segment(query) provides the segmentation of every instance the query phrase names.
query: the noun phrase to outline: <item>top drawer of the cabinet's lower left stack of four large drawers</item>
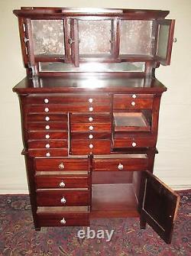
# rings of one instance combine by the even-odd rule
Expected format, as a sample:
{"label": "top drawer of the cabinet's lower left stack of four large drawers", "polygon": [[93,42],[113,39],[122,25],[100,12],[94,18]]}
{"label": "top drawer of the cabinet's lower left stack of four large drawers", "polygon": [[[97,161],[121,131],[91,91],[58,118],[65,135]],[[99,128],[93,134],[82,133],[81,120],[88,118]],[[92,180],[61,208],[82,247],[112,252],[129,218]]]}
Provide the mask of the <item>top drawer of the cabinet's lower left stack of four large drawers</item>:
{"label": "top drawer of the cabinet's lower left stack of four large drawers", "polygon": [[89,170],[89,160],[75,158],[37,158],[34,160],[36,170]]}

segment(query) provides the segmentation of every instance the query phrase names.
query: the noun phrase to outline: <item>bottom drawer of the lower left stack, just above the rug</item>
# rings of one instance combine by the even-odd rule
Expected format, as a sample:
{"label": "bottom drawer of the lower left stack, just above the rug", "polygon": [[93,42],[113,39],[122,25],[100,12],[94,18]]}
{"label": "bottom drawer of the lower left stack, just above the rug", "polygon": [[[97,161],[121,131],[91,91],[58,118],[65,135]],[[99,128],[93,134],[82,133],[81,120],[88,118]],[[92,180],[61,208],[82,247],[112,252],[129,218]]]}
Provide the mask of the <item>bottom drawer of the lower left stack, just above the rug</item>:
{"label": "bottom drawer of the lower left stack, just above the rug", "polygon": [[[83,207],[84,206],[79,206],[75,208],[83,208]],[[89,212],[78,211],[78,210],[70,212],[74,207],[70,207],[70,209],[68,209],[67,212],[66,211],[57,212],[58,207],[48,207],[50,212],[47,212],[47,211],[44,212],[44,208],[47,208],[47,207],[38,207],[37,209],[37,222],[39,223],[40,227],[89,225]],[[43,209],[43,210],[40,211],[39,209]]]}

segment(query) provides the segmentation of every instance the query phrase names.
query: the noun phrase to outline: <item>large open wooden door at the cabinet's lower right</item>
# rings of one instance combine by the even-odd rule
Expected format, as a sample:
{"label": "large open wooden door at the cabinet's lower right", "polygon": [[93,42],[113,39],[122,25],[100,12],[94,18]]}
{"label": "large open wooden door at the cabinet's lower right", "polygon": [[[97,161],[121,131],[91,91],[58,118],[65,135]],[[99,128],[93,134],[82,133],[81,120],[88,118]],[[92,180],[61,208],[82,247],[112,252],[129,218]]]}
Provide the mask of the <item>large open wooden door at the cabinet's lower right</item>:
{"label": "large open wooden door at the cabinet's lower right", "polygon": [[148,171],[143,172],[141,190],[141,219],[170,244],[180,196]]}

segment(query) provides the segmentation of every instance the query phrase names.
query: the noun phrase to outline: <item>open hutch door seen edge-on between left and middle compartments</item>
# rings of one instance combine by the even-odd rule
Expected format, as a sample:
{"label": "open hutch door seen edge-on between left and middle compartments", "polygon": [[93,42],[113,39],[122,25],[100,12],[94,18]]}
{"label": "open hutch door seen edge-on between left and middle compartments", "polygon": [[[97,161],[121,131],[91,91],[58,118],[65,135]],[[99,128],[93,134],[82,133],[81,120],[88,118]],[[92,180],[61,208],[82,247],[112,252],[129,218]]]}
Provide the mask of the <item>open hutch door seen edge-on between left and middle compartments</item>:
{"label": "open hutch door seen edge-on between left and middle compartments", "polygon": [[78,21],[75,18],[70,19],[70,39],[71,58],[74,66],[79,66],[79,29]]}

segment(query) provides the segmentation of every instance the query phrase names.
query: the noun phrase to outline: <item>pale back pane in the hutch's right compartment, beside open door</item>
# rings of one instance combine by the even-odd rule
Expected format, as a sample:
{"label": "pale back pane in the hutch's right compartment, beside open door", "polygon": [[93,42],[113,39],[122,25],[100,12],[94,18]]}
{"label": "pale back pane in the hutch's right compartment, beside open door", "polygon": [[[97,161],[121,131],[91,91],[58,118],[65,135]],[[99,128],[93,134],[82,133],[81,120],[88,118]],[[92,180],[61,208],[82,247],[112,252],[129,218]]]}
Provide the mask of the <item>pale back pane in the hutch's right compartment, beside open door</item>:
{"label": "pale back pane in the hutch's right compartment, beside open door", "polygon": [[121,21],[120,54],[151,55],[153,21]]}

